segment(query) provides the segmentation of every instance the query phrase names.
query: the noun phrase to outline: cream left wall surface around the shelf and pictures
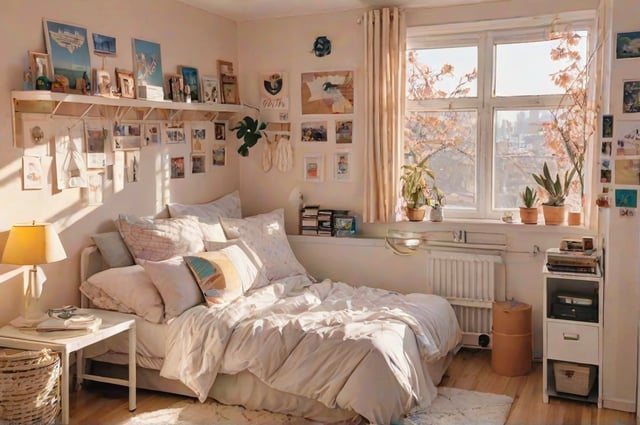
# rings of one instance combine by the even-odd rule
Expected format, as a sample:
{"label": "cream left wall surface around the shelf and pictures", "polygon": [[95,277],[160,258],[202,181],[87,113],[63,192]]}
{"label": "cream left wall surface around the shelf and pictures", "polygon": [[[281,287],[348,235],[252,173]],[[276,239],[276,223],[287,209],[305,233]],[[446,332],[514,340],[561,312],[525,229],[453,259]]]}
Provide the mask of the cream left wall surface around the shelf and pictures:
{"label": "cream left wall surface around the shelf and pictures", "polygon": [[[23,191],[23,152],[12,143],[10,92],[22,89],[27,51],[45,51],[42,18],[82,26],[89,34],[115,36],[117,57],[105,61],[112,78],[116,67],[133,69],[134,37],[160,43],[165,74],[175,73],[178,65],[190,65],[201,74],[215,75],[217,59],[237,60],[236,24],[173,0],[6,0],[2,9],[0,38],[5,41],[0,48],[0,246],[4,246],[13,223],[32,219],[55,223],[69,258],[43,266],[48,276],[43,304],[78,304],[79,252],[89,244],[91,233],[113,230],[112,220],[120,212],[152,215],[170,200],[203,202],[236,189],[237,155],[230,149],[226,167],[210,168],[207,174],[198,176],[187,172],[185,179],[167,181],[157,179],[159,159],[163,154],[184,154],[188,158],[190,146],[145,147],[141,180],[125,184],[118,194],[106,193],[105,203],[99,207],[85,206],[80,189],[54,194],[49,185],[42,190]],[[101,64],[97,56],[92,56],[92,66]],[[209,130],[212,133],[213,129]],[[19,268],[0,265],[0,324],[19,315],[22,286]]]}

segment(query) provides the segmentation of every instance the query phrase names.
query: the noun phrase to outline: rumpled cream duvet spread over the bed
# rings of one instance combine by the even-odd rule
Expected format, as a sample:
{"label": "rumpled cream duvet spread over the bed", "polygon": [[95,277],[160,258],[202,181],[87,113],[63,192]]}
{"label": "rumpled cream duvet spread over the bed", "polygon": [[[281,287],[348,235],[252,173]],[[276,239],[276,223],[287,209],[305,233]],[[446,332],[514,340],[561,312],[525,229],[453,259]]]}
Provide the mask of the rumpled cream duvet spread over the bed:
{"label": "rumpled cream duvet spread over the bed", "polygon": [[218,373],[247,370],[272,388],[386,424],[435,399],[423,362],[460,338],[441,297],[294,276],[174,319],[160,374],[204,401]]}

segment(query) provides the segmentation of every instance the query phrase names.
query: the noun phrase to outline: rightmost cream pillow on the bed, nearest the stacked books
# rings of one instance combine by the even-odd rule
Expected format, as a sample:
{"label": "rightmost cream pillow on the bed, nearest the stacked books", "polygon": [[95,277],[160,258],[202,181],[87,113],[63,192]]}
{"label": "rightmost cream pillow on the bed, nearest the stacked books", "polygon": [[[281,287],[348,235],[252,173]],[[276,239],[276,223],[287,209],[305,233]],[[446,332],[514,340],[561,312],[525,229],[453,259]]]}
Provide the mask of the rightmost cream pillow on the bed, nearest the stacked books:
{"label": "rightmost cream pillow on the bed, nearest the stacked books", "polygon": [[239,238],[255,252],[269,281],[307,273],[289,245],[284,209],[244,219],[221,217],[220,223],[228,239]]}

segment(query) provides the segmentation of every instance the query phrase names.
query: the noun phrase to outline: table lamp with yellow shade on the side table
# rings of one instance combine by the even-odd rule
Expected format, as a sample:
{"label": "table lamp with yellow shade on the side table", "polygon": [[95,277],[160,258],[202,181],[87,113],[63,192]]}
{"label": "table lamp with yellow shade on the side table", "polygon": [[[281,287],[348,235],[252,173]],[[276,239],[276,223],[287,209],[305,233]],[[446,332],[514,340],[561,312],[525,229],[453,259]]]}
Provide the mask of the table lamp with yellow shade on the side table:
{"label": "table lamp with yellow shade on the side table", "polygon": [[2,262],[30,265],[29,285],[24,300],[24,318],[38,319],[44,315],[40,309],[39,264],[54,263],[67,258],[58,233],[51,223],[14,224],[4,247]]}

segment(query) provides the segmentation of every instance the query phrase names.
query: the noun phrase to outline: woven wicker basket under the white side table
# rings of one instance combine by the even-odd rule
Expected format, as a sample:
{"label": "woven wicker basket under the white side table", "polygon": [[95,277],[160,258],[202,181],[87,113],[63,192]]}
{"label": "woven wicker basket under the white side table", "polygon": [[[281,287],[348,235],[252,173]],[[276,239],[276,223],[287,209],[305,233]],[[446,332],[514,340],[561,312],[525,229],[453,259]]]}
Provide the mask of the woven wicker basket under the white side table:
{"label": "woven wicker basket under the white side table", "polygon": [[53,424],[60,410],[60,357],[0,350],[0,423]]}

